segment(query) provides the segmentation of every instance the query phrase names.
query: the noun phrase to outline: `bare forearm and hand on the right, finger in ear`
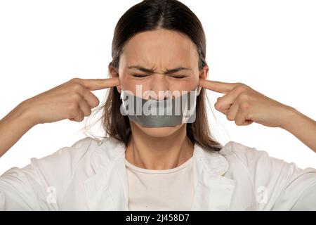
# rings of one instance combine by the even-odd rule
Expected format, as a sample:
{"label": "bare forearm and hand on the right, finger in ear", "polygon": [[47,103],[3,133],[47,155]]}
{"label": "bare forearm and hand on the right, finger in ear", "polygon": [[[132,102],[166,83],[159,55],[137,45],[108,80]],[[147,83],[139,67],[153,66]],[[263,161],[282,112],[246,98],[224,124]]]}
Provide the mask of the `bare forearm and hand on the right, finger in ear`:
{"label": "bare forearm and hand on the right, finger in ear", "polygon": [[280,127],[294,134],[316,153],[316,121],[298,110],[275,101],[241,83],[213,82],[200,79],[199,86],[225,94],[217,99],[216,110],[239,126],[253,122]]}

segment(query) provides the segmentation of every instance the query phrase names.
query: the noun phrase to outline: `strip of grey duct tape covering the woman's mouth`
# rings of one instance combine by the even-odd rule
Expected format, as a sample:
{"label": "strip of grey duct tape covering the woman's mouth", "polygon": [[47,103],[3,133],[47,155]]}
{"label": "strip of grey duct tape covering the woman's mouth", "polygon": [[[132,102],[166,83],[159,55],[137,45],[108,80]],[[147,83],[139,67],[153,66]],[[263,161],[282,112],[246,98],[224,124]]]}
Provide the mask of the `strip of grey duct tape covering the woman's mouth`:
{"label": "strip of grey duct tape covering the woman's mouth", "polygon": [[196,118],[197,89],[184,91],[177,98],[163,101],[146,100],[121,91],[121,114],[143,127],[175,127],[193,123]]}

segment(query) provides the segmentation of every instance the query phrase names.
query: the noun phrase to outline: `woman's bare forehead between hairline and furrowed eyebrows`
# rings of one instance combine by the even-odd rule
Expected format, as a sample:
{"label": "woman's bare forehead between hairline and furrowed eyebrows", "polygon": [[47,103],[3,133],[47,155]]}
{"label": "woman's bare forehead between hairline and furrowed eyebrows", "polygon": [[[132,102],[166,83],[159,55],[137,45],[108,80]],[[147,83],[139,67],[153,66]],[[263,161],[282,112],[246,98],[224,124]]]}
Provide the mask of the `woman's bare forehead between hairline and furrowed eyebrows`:
{"label": "woman's bare forehead between hairline and furrowed eyebrows", "polygon": [[142,64],[157,68],[195,67],[195,44],[184,34],[171,30],[141,32],[132,37],[121,54],[125,65]]}

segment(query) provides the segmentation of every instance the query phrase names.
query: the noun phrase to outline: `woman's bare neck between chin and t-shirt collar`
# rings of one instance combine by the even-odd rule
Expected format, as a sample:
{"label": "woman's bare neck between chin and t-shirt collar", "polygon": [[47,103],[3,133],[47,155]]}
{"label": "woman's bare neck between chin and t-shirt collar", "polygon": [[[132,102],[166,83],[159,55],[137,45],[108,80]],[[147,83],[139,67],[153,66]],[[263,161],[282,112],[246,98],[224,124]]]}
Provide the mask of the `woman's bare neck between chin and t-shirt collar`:
{"label": "woman's bare neck between chin and t-shirt collar", "polygon": [[126,146],[126,160],[144,169],[172,169],[193,155],[193,144],[187,138],[186,124],[166,137],[152,137],[131,123],[131,137]]}

